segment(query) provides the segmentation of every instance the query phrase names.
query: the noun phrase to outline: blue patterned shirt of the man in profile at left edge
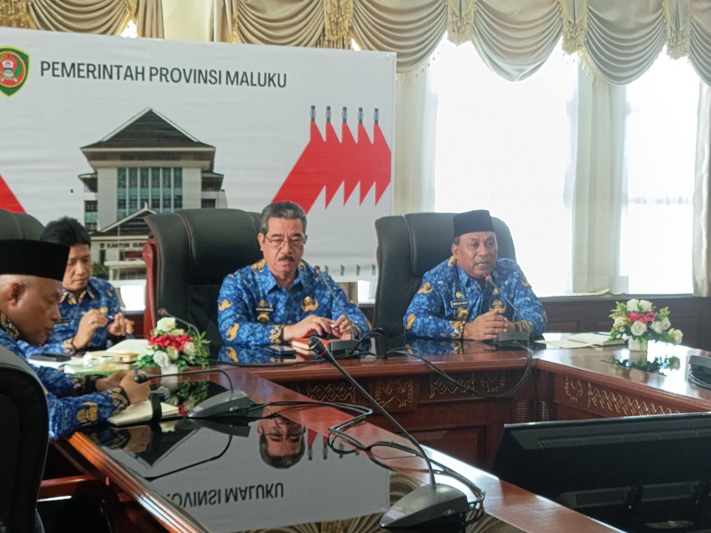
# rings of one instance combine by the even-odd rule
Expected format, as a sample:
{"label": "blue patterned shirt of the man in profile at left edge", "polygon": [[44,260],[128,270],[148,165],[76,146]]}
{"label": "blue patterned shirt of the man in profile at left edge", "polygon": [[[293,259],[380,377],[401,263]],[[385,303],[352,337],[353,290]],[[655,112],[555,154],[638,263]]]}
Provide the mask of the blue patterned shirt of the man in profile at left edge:
{"label": "blue patterned shirt of the man in profile at left edge", "polygon": [[[0,312],[0,346],[24,358],[19,338],[16,327]],[[46,390],[50,439],[59,439],[77,429],[104,422],[130,404],[121,387],[85,394],[85,376],[65,374],[46,366],[30,366]]]}

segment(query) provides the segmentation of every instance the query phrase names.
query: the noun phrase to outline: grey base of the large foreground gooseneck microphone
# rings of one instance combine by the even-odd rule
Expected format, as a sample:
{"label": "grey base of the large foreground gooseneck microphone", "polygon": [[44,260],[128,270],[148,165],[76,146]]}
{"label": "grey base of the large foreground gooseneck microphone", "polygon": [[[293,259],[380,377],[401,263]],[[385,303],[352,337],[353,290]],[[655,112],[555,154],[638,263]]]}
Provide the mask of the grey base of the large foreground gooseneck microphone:
{"label": "grey base of the large foreground gooseneck microphone", "polygon": [[469,502],[449,485],[425,485],[406,494],[385,512],[380,527],[413,527],[464,522]]}

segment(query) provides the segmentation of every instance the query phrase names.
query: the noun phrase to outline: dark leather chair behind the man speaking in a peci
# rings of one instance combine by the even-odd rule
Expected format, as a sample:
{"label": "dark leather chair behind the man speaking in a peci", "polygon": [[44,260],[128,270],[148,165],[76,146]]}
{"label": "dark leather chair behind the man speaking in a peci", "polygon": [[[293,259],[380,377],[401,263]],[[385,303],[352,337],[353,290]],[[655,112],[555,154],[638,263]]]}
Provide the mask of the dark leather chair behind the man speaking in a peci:
{"label": "dark leather chair behind the man speaking in a peci", "polygon": [[[378,285],[373,326],[387,336],[404,333],[402,317],[422,285],[422,275],[451,256],[454,213],[412,213],[375,221],[378,236]],[[498,256],[516,259],[508,226],[492,217]]]}

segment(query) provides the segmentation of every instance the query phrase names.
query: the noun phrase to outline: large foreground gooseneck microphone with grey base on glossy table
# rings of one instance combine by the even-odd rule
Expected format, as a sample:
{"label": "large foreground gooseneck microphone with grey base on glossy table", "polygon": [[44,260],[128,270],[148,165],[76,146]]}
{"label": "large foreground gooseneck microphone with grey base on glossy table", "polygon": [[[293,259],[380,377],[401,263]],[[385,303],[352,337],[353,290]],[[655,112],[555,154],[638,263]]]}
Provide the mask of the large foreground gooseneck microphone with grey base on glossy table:
{"label": "large foreground gooseneck microphone with grey base on glossy table", "polygon": [[338,361],[333,358],[333,353],[331,353],[319,337],[309,337],[309,349],[336,367],[336,370],[343,375],[343,378],[346,378],[348,383],[351,383],[355,390],[358,390],[358,392],[370,402],[370,405],[373,405],[375,410],[380,412],[390,424],[402,432],[405,438],[415,446],[425,463],[427,463],[429,485],[413,490],[395,502],[395,505],[392,505],[380,519],[380,527],[430,526],[444,523],[451,524],[459,519],[464,521],[464,516],[469,512],[469,502],[466,499],[466,495],[461,492],[461,490],[451,487],[450,485],[437,483],[434,479],[432,463],[415,437],[408,433],[390,413],[375,401],[375,398],[368,394],[358,381],[353,379],[351,374],[343,369]]}

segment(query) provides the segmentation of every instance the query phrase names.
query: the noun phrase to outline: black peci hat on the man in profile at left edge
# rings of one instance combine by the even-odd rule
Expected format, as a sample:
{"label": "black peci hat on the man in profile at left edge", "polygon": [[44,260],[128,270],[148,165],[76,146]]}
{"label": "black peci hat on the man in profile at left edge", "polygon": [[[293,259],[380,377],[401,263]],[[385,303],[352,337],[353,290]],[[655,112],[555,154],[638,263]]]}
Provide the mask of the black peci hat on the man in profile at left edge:
{"label": "black peci hat on the man in profile at left edge", "polygon": [[0,275],[18,274],[61,281],[69,247],[23,238],[0,241]]}

